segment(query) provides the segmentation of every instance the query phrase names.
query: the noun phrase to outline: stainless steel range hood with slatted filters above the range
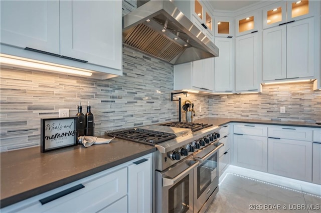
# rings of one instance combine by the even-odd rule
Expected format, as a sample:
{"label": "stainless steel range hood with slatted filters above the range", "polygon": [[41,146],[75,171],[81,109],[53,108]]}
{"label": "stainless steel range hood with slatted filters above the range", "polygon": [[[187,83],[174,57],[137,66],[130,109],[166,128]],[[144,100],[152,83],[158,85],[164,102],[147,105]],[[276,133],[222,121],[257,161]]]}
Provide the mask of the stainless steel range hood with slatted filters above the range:
{"label": "stainless steel range hood with slatted filters above the range", "polygon": [[218,47],[170,0],[150,0],[124,15],[123,43],[171,64],[219,55]]}

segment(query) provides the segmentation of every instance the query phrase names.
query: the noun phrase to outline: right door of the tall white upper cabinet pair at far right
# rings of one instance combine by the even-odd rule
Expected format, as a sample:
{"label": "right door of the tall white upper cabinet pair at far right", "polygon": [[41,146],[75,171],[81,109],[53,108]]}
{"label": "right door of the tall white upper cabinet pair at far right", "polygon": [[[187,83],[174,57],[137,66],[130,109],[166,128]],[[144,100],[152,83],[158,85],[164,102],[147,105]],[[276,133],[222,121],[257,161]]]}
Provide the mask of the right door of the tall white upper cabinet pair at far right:
{"label": "right door of the tall white upper cabinet pair at far right", "polygon": [[287,78],[310,77],[314,73],[313,17],[287,24]]}

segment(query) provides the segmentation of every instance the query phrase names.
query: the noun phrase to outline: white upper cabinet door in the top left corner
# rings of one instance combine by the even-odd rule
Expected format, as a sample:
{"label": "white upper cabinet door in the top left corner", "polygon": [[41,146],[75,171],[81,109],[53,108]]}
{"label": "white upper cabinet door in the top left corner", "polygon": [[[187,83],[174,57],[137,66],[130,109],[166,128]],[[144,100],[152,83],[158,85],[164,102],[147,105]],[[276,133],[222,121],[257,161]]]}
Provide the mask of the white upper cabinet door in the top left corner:
{"label": "white upper cabinet door in the top left corner", "polygon": [[2,0],[1,43],[60,54],[59,1]]}

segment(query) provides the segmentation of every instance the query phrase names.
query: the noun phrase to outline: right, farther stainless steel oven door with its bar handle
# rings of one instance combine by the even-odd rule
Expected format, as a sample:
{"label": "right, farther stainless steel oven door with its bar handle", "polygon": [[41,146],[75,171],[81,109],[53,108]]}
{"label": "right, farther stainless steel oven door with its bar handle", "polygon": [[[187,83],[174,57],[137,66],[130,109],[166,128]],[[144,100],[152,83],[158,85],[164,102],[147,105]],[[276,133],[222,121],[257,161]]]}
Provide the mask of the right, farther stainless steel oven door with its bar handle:
{"label": "right, farther stainless steel oven door with its bar handle", "polygon": [[[211,202],[218,191],[218,149],[223,145],[210,144],[194,156],[194,160],[200,163],[194,171],[194,212],[198,212],[206,202]],[[208,200],[211,195],[212,199]]]}

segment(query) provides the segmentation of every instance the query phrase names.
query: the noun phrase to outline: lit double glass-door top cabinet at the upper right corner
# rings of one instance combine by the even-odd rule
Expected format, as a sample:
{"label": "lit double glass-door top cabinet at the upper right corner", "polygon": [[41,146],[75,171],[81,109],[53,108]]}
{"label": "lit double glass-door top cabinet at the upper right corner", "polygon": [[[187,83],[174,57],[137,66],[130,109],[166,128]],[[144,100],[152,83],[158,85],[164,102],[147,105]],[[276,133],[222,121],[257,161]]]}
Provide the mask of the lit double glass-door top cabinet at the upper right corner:
{"label": "lit double glass-door top cabinet at the upper right corner", "polygon": [[279,1],[263,9],[263,28],[313,16],[313,1]]}

